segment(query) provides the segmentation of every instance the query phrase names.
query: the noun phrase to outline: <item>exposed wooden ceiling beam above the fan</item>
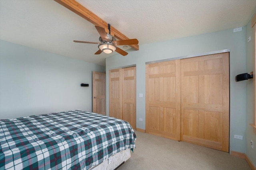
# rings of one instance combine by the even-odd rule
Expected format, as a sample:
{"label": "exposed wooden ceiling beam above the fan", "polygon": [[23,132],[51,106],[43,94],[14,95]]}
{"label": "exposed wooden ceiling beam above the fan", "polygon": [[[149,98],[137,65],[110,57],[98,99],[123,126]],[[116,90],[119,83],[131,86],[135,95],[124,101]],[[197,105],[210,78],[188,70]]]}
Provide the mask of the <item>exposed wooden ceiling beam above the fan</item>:
{"label": "exposed wooden ceiling beam above the fan", "polygon": [[[104,27],[106,30],[108,30],[108,23],[106,21],[96,16],[94,13],[92,13],[90,10],[88,10],[87,8],[85,8],[75,0],[54,0],[54,1],[68,8],[72,12],[78,14],[80,17],[84,18],[90,23],[94,25],[99,25],[101,27]],[[129,39],[128,37],[126,37],[124,34],[122,34],[120,31],[118,31],[112,26],[111,26],[111,33],[113,33],[114,37],[116,37],[119,40]],[[139,45],[129,45],[129,46],[134,48],[135,50],[139,50]]]}

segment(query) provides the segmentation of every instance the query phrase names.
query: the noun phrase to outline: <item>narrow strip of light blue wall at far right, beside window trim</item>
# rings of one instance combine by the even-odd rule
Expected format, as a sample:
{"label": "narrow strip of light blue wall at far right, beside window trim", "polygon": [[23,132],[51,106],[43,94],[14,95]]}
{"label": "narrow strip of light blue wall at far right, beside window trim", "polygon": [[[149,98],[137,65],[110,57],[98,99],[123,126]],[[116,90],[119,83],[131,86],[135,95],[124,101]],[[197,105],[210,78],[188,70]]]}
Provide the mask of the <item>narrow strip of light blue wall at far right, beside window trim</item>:
{"label": "narrow strip of light blue wall at far right, beside window trim", "polygon": [[[246,37],[251,36],[251,41],[246,42],[246,72],[250,74],[253,71],[253,29],[251,21],[246,25]],[[255,74],[254,74],[255,75]],[[255,77],[254,77],[255,78]],[[246,80],[246,154],[256,166],[256,134],[253,132],[250,123],[253,122],[253,79]],[[254,141],[254,149],[251,148],[250,141]]]}

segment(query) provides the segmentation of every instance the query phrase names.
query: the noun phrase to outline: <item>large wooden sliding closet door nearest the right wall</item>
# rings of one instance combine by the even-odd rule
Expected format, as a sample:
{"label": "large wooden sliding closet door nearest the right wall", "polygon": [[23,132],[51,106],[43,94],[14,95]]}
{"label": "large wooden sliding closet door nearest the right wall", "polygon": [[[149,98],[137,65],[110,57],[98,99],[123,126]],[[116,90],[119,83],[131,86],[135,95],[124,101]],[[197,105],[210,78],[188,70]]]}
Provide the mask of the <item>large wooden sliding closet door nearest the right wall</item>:
{"label": "large wooden sliding closet door nearest the right wall", "polygon": [[229,53],[181,60],[181,140],[229,150]]}

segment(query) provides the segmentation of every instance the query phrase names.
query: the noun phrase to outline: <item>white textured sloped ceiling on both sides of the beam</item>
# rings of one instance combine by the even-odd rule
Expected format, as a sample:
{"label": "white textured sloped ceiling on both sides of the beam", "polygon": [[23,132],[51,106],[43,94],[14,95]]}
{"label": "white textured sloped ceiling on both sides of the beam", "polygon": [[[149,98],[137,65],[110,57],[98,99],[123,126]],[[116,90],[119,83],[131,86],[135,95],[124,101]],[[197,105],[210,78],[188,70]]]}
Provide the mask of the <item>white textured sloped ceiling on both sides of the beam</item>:
{"label": "white textured sloped ceiling on both sides of the beam", "polygon": [[[78,0],[139,45],[245,26],[256,0]],[[0,39],[89,63],[105,65],[94,55],[94,25],[51,0],[0,0]],[[122,48],[122,47],[121,47]],[[123,57],[120,55],[120,57]],[[126,56],[129,57],[129,54]]]}

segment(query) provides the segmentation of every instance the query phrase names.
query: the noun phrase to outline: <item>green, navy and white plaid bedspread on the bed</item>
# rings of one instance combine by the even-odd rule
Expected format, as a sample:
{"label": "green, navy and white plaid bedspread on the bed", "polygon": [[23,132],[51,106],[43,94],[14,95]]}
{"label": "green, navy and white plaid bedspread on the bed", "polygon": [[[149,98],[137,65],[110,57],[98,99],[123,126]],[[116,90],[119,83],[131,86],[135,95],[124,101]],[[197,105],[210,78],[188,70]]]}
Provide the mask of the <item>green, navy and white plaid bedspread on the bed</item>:
{"label": "green, navy and white plaid bedspread on the bed", "polygon": [[87,111],[6,119],[0,125],[0,170],[89,169],[135,148],[128,122]]}

